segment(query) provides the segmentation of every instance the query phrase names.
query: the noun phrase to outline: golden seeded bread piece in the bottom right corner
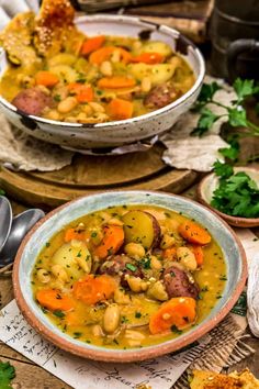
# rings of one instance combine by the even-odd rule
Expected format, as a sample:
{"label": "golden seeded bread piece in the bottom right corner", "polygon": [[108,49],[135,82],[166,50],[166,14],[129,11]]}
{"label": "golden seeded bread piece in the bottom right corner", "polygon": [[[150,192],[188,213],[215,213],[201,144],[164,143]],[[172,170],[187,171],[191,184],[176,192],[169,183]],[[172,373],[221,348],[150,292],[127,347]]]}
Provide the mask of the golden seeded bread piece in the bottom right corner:
{"label": "golden seeded bread piece in the bottom right corner", "polygon": [[259,389],[259,380],[248,370],[228,376],[213,371],[193,370],[191,389]]}

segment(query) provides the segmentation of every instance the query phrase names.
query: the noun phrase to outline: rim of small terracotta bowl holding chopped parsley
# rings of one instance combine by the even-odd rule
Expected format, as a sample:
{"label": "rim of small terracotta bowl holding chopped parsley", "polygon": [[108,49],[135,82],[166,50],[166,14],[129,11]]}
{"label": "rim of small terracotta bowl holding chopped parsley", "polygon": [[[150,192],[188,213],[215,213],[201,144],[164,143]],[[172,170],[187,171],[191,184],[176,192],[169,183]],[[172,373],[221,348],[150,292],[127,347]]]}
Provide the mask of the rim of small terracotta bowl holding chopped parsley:
{"label": "rim of small terracotta bowl holding chopped parsley", "polygon": [[[250,170],[250,171],[256,171],[259,174],[259,169],[256,167],[237,167],[238,170]],[[203,197],[203,188],[204,186],[207,185],[207,181],[210,178],[212,178],[214,173],[211,173],[210,175],[205,176],[198,185],[196,187],[196,196],[199,201],[209,208],[211,211],[214,213],[218,214],[223,220],[225,220],[227,223],[234,226],[239,226],[239,227],[252,227],[252,226],[258,226],[259,225],[259,218],[241,218],[241,216],[232,216],[230,214],[224,213],[212,207]]]}

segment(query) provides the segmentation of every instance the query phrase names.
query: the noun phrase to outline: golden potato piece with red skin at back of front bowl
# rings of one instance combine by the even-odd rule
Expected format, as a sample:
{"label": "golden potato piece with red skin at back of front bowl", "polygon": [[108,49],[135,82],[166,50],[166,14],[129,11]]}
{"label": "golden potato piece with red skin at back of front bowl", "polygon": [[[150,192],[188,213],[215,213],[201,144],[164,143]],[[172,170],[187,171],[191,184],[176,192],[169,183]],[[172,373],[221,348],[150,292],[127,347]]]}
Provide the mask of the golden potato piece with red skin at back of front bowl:
{"label": "golden potato piece with red skin at back of front bowl", "polygon": [[160,242],[160,225],[155,216],[146,211],[134,210],[122,218],[124,223],[125,244],[134,242],[145,249],[156,247]]}

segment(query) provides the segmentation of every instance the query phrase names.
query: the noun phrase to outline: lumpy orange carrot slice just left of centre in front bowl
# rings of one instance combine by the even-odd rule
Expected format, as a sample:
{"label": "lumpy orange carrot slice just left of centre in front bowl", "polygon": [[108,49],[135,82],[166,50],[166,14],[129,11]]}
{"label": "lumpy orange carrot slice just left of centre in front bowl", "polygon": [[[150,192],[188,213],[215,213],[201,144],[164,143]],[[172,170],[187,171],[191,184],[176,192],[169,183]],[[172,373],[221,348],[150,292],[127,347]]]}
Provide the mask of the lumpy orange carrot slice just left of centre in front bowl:
{"label": "lumpy orange carrot slice just left of centre in front bowl", "polygon": [[88,275],[74,284],[72,293],[76,299],[92,305],[110,299],[115,289],[116,284],[112,277],[102,275],[94,278],[93,275]]}

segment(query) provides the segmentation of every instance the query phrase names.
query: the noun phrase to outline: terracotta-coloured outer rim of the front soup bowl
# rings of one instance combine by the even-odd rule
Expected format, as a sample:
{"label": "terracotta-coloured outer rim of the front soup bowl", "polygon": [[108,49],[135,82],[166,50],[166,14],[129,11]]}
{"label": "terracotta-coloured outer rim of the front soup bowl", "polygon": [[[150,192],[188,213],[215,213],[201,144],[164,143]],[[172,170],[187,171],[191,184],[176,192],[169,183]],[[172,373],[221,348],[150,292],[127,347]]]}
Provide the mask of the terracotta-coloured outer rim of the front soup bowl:
{"label": "terracotta-coloured outer rim of the front soup bowl", "polygon": [[[159,191],[147,191],[147,190],[124,190],[124,191],[109,191],[109,192],[114,193],[114,196],[116,196],[117,192],[119,193],[134,193],[134,194],[150,193],[150,194],[164,194],[167,197],[173,197],[174,199],[180,199],[180,198],[182,199],[182,197],[177,196],[177,194],[172,194],[172,193],[168,193],[168,192],[159,192]],[[102,193],[102,192],[98,192],[97,194],[100,194],[100,193]],[[94,194],[92,194],[92,196],[94,196]],[[65,349],[71,354],[75,354],[75,355],[78,355],[78,356],[81,356],[85,358],[91,358],[91,359],[102,360],[102,362],[115,362],[115,363],[145,360],[145,359],[158,357],[158,356],[171,353],[171,352],[176,352],[176,351],[191,344],[192,342],[194,342],[195,340],[200,338],[202,335],[204,335],[209,331],[211,331],[216,324],[218,324],[226,316],[226,314],[234,307],[235,302],[237,301],[238,297],[240,296],[240,293],[245,287],[246,279],[247,279],[247,260],[246,260],[246,254],[245,254],[245,251],[244,251],[243,245],[240,243],[240,240],[236,236],[234,231],[229,227],[229,225],[225,221],[223,221],[218,215],[214,214],[214,216],[225,226],[225,229],[228,231],[228,233],[230,233],[232,237],[236,242],[237,247],[240,253],[240,259],[241,259],[240,268],[241,269],[240,269],[239,280],[236,284],[232,296],[226,301],[224,307],[218,312],[216,312],[215,315],[213,318],[211,318],[207,322],[201,324],[201,326],[198,327],[196,331],[194,331],[193,333],[187,332],[187,334],[181,335],[179,338],[174,338],[174,340],[166,342],[166,343],[160,343],[159,347],[154,347],[154,348],[149,347],[148,349],[147,348],[145,349],[145,347],[143,347],[143,348],[138,348],[138,349],[126,351],[126,353],[124,351],[120,351],[120,349],[109,349],[109,353],[106,353],[106,352],[102,351],[101,347],[100,347],[100,349],[90,349],[90,348],[88,348],[87,344],[86,344],[86,348],[82,348],[82,347],[79,347],[79,346],[70,343],[69,341],[63,338],[59,335],[55,335],[31,311],[30,305],[27,304],[25,298],[22,294],[21,287],[20,287],[20,279],[19,279],[20,263],[22,259],[23,251],[24,251],[27,242],[31,240],[34,232],[45,221],[47,221],[53,215],[57,214],[63,209],[70,207],[70,204],[77,202],[78,200],[83,199],[83,198],[88,198],[88,197],[89,196],[83,196],[83,197],[77,198],[70,202],[67,202],[67,203],[58,207],[54,211],[49,212],[42,220],[40,220],[36,223],[36,225],[29,232],[29,234],[23,240],[23,242],[18,251],[15,260],[14,260],[12,280],[13,280],[13,289],[14,289],[14,297],[15,297],[16,303],[18,303],[22,314],[27,320],[27,322],[34,329],[36,329],[37,332],[43,334],[44,337],[47,338],[47,341],[52,342],[53,344],[55,344],[56,346],[58,346],[61,349]],[[204,209],[204,210],[211,212],[210,210],[207,210],[206,207],[203,207],[193,200],[190,200],[187,198],[184,198],[184,200],[192,203],[192,205],[194,205],[194,207],[198,207],[198,208],[201,208],[201,209]],[[148,203],[148,200],[147,200],[147,203]]]}

